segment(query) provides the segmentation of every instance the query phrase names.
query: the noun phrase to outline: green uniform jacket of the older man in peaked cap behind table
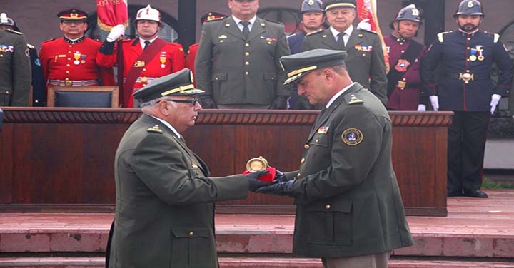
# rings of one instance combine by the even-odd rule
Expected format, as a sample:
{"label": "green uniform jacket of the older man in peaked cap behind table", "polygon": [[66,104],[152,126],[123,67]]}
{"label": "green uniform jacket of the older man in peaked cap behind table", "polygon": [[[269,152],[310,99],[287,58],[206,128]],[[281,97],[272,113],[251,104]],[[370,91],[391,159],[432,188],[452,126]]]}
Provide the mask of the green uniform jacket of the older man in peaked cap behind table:
{"label": "green uniform jacket of the older man in peaked cap behind table", "polygon": [[303,39],[302,51],[316,48],[346,51],[345,63],[350,78],[368,88],[384,105],[387,104],[388,81],[382,43],[376,33],[354,28],[346,46],[336,42],[330,29],[308,34]]}

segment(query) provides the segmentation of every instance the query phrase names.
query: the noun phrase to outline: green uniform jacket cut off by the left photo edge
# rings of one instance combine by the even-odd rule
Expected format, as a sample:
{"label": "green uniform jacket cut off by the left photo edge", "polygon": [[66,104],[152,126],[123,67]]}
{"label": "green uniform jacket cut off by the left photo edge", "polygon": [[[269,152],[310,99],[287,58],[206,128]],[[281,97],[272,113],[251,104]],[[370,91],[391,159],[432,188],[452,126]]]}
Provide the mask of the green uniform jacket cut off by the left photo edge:
{"label": "green uniform jacket cut off by the left photo edge", "polygon": [[0,30],[0,106],[28,106],[31,76],[25,37]]}

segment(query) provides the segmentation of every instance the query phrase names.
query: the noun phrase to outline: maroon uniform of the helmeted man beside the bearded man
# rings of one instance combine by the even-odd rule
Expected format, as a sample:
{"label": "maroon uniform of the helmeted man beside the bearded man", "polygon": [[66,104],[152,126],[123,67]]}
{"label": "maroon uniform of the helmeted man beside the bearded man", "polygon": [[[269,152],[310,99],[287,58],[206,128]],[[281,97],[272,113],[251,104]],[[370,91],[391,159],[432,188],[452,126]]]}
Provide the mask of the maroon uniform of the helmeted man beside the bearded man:
{"label": "maroon uniform of the helmeted man beside the bearded man", "polygon": [[[395,83],[395,86],[392,91],[388,92],[387,107],[392,110],[418,110],[418,104],[426,103],[426,100],[420,101],[421,60],[426,53],[426,49],[422,44],[412,39],[398,38],[393,35],[385,36],[384,42],[388,46],[389,61],[395,65],[391,68],[403,73],[399,81],[388,81]],[[411,43],[417,43],[418,46],[423,47],[413,62],[409,62],[402,57]]]}

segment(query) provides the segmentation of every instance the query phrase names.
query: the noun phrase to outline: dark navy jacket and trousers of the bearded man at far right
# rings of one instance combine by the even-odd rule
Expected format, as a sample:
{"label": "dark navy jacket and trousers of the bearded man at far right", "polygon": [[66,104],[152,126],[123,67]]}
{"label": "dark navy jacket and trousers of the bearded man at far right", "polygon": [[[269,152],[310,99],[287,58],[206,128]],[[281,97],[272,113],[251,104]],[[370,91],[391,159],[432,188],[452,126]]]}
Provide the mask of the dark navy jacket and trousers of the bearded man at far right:
{"label": "dark navy jacket and trousers of the bearded man at far right", "polygon": [[[439,33],[423,58],[425,94],[438,96],[439,110],[455,112],[448,128],[448,195],[480,189],[491,96],[505,96],[513,76],[499,37],[483,31]],[[490,79],[493,63],[500,70],[496,86]]]}

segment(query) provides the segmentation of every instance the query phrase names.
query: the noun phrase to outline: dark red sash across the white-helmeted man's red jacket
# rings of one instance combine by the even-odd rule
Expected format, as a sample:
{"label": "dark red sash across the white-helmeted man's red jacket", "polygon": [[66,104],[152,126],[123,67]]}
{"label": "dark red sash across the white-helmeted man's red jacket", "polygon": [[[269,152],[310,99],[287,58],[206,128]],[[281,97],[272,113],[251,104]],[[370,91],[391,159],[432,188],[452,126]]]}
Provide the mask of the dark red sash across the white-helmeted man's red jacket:
{"label": "dark red sash across the white-helmeted man's red jacket", "polygon": [[[136,39],[137,42],[138,39]],[[141,55],[136,59],[136,62],[143,62],[148,63],[152,60],[154,56],[157,55],[159,51],[161,51],[161,48],[166,46],[166,41],[162,40],[161,38],[157,38],[155,41],[153,41],[148,47],[143,50]],[[125,84],[124,84],[124,90],[126,91],[124,94],[124,105],[129,106],[130,100],[132,98],[133,93],[133,84],[136,83],[136,80],[139,76],[139,74],[143,71],[143,68],[145,66],[135,66],[135,63],[132,65],[131,69],[129,70],[129,73],[127,73]],[[132,108],[132,107],[126,107],[126,108]]]}

